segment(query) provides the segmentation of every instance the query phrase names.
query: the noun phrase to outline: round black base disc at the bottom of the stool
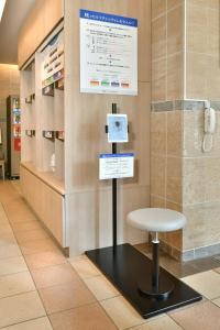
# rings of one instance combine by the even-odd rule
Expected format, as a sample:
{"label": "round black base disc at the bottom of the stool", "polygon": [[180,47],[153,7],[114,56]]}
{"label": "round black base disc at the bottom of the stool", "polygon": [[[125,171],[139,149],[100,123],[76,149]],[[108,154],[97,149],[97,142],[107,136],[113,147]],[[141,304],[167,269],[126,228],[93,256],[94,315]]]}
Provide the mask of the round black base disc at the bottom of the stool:
{"label": "round black base disc at the bottom of the stool", "polygon": [[167,299],[174,290],[174,284],[168,278],[161,276],[157,289],[153,287],[152,282],[139,282],[138,288],[141,294],[150,298]]}

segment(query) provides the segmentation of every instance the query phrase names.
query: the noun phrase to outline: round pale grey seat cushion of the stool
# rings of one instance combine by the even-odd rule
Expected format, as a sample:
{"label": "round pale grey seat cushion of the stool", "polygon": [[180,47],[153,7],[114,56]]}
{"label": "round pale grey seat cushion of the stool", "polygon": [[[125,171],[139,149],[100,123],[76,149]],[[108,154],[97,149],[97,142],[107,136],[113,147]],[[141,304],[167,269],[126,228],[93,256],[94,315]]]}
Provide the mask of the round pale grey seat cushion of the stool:
{"label": "round pale grey seat cushion of the stool", "polygon": [[128,215],[128,222],[138,229],[152,232],[168,232],[184,228],[184,215],[162,208],[145,208]]}

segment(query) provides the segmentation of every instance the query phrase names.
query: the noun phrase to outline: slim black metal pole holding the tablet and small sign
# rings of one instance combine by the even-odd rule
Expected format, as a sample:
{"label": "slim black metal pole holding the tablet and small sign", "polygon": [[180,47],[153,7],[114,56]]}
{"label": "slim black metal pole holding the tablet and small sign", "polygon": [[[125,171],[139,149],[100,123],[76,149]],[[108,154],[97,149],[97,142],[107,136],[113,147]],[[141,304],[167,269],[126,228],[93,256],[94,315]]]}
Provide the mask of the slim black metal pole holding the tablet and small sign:
{"label": "slim black metal pole holding the tablet and small sign", "polygon": [[[117,113],[117,103],[112,103],[112,113]],[[117,143],[112,143],[112,154],[117,154]],[[117,179],[112,179],[112,230],[113,248],[117,246]]]}

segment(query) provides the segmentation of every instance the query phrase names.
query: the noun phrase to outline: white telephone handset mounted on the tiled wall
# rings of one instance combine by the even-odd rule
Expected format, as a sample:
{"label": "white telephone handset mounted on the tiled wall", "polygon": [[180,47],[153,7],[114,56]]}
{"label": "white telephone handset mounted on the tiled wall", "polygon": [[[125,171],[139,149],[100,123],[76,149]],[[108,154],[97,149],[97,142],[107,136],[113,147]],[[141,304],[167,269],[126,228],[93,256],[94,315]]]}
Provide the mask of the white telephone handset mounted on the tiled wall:
{"label": "white telephone handset mounted on the tiled wall", "polygon": [[[205,101],[205,135],[202,141],[202,152],[210,152],[212,148],[212,135],[216,132],[217,119],[215,109],[210,108],[210,102]],[[208,140],[208,141],[207,141]],[[207,146],[207,142],[209,145]]]}

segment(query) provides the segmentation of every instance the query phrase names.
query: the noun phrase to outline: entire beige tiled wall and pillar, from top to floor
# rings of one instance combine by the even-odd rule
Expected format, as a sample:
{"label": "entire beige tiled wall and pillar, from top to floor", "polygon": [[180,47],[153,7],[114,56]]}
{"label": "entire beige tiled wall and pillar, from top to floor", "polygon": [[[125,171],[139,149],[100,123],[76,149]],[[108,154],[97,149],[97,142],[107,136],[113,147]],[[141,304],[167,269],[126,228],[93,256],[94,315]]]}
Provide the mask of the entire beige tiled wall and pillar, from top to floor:
{"label": "entire beige tiled wall and pillar, from top to floor", "polygon": [[[162,235],[185,260],[220,253],[219,20],[219,0],[152,1],[151,205],[186,215]],[[218,120],[202,153],[207,99]]]}

